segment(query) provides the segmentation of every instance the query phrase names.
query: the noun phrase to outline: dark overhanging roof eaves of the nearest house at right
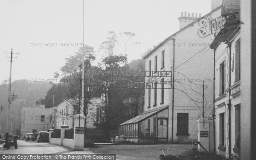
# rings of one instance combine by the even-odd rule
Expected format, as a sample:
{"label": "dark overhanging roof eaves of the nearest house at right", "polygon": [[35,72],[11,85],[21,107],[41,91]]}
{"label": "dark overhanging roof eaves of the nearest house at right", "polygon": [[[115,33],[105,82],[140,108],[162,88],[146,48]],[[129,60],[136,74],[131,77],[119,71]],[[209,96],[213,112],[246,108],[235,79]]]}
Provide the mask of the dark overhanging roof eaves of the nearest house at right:
{"label": "dark overhanging roof eaves of the nearest house at right", "polygon": [[228,42],[230,38],[233,37],[233,35],[240,32],[241,23],[242,22],[231,23],[225,26],[223,29],[221,29],[220,32],[218,32],[218,35],[212,41],[210,48],[214,49],[218,47],[219,44],[221,44],[221,42]]}

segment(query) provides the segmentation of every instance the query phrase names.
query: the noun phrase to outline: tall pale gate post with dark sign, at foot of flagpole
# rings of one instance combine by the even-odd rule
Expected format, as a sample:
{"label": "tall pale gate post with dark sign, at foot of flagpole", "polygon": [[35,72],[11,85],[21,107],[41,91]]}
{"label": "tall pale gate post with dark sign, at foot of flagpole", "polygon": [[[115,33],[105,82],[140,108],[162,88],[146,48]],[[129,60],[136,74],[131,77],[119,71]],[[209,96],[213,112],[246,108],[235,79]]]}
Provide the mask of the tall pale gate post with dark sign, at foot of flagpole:
{"label": "tall pale gate post with dark sign, at foot of flagpole", "polygon": [[84,121],[85,116],[74,116],[74,148],[75,151],[84,151]]}

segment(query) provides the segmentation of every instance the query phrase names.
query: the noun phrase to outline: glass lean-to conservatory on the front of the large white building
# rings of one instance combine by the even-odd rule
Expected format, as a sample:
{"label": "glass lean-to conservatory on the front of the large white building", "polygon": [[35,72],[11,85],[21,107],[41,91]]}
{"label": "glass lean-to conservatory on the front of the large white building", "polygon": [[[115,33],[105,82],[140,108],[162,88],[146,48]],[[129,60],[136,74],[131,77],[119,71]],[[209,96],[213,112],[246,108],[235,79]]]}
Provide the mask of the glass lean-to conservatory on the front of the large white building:
{"label": "glass lean-to conservatory on the front of the large white building", "polygon": [[155,108],[119,125],[119,136],[134,143],[157,143],[168,140],[168,106]]}

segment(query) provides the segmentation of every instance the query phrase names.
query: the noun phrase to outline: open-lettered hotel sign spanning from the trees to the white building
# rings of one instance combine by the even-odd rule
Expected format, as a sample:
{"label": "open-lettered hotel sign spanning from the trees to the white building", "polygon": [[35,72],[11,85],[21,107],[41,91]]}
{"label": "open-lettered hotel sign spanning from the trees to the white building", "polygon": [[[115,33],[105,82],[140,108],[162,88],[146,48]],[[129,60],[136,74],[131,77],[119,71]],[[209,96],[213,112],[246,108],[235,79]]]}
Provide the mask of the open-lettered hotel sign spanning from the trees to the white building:
{"label": "open-lettered hotel sign spanning from the trees to the white building", "polygon": [[[172,71],[150,71],[150,70],[112,70],[112,76],[119,76],[119,82],[125,86],[112,86],[113,88],[172,88]],[[131,81],[129,77],[143,76],[148,77],[146,81]],[[155,84],[169,84],[169,85],[155,85]],[[158,87],[157,87],[158,86]]]}

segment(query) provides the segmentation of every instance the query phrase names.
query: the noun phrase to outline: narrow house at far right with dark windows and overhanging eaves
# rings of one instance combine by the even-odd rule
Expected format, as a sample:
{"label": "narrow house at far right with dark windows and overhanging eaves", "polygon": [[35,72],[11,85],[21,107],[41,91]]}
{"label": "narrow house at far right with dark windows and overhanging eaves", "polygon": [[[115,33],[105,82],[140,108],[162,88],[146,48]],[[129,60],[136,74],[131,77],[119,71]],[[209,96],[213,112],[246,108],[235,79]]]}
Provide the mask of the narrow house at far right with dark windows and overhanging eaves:
{"label": "narrow house at far right with dark windows and overhanging eaves", "polygon": [[224,25],[210,46],[215,62],[215,150],[231,157],[239,155],[241,131],[240,0],[224,0]]}

